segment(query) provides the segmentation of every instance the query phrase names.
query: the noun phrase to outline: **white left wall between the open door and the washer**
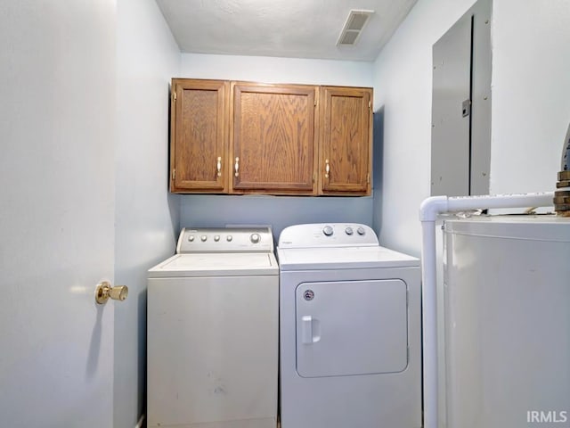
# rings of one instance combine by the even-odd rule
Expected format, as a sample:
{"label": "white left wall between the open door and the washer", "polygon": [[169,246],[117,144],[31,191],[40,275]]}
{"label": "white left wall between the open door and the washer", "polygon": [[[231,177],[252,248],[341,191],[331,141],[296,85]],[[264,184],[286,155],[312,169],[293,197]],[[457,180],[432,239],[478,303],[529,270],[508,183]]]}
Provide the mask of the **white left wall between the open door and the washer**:
{"label": "white left wall between the open door and the washer", "polygon": [[118,0],[114,426],[142,415],[146,270],[175,250],[179,199],[167,191],[169,81],[180,52],[154,0]]}

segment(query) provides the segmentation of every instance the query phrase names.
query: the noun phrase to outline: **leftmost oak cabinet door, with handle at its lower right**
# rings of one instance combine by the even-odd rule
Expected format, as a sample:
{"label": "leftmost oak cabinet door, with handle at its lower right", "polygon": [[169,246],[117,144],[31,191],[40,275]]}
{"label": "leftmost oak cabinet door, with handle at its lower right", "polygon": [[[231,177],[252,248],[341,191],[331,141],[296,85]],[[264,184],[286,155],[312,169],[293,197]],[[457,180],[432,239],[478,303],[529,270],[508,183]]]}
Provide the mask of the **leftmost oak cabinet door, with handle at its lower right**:
{"label": "leftmost oak cabinet door, with handle at its lower right", "polygon": [[172,80],[170,191],[227,193],[228,82]]}

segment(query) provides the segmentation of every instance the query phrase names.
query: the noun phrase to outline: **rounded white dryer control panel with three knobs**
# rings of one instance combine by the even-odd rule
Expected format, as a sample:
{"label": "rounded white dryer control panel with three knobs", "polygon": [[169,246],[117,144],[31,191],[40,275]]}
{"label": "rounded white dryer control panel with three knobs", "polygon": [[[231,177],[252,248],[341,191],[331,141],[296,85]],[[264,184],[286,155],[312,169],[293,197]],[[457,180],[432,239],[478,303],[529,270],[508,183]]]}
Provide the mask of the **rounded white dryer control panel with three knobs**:
{"label": "rounded white dryer control panel with three knobs", "polygon": [[289,226],[279,236],[280,248],[378,246],[370,226],[355,223],[314,223]]}

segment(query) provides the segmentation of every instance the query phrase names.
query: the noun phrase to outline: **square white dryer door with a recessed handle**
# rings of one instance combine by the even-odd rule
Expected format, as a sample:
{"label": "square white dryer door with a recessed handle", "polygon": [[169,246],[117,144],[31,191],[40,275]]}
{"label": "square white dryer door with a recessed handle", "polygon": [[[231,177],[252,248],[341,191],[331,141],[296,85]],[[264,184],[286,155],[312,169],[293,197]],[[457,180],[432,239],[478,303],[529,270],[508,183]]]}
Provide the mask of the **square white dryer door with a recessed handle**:
{"label": "square white dryer door with a recessed handle", "polygon": [[296,306],[300,376],[396,373],[408,365],[402,280],[303,283]]}

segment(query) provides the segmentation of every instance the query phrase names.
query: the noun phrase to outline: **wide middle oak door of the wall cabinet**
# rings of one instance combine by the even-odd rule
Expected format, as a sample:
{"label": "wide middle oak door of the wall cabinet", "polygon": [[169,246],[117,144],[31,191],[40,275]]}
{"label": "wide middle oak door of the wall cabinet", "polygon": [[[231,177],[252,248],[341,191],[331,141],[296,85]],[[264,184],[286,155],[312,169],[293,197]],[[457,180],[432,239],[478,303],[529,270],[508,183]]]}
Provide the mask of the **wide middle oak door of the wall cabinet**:
{"label": "wide middle oak door of the wall cabinet", "polygon": [[232,193],[316,194],[315,86],[232,82]]}

